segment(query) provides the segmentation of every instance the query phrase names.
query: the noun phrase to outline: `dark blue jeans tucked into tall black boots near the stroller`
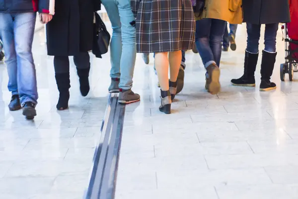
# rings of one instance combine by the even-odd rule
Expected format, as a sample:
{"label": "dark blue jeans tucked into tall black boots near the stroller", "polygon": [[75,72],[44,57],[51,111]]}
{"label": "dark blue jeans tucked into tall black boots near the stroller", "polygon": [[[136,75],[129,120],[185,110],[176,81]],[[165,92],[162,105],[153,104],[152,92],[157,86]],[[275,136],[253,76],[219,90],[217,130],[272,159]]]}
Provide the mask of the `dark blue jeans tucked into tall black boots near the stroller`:
{"label": "dark blue jeans tucked into tall black boots near the stroller", "polygon": [[[264,44],[265,51],[276,52],[276,35],[279,23],[272,23],[265,25]],[[259,52],[259,40],[261,32],[261,24],[246,24],[247,29],[247,47],[246,51],[250,53]]]}

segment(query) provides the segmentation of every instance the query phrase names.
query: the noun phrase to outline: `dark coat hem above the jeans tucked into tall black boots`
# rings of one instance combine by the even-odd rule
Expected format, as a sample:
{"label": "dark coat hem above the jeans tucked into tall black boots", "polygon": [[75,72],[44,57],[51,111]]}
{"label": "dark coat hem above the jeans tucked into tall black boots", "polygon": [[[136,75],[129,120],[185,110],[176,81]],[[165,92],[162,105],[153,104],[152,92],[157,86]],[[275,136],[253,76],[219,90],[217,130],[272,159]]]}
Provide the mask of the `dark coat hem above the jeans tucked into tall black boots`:
{"label": "dark coat hem above the jeans tucked into tall black boots", "polygon": [[242,0],[243,22],[252,24],[290,21],[289,0]]}

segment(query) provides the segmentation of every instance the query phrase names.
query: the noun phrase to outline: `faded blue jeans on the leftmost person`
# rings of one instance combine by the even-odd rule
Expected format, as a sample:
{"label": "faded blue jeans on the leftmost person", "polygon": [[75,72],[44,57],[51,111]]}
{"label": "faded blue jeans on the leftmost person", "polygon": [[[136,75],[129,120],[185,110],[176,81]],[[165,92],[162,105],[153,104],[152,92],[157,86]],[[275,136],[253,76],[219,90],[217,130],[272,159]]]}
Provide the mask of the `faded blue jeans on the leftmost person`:
{"label": "faded blue jeans on the leftmost person", "polygon": [[36,71],[32,42],[36,13],[0,13],[0,39],[3,41],[8,72],[8,90],[19,95],[21,103],[37,103]]}

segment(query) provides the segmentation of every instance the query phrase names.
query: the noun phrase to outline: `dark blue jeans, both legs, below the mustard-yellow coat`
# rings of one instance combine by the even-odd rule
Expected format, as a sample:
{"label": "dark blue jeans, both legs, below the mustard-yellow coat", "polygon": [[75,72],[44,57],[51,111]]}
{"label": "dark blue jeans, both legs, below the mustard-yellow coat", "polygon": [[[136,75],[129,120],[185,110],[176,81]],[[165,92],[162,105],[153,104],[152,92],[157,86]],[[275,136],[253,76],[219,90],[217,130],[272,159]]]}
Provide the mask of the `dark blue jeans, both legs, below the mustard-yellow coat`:
{"label": "dark blue jeans, both legs, below the mustard-yellow coat", "polygon": [[220,66],[225,26],[226,22],[220,19],[204,18],[196,21],[196,46],[205,68],[210,64]]}

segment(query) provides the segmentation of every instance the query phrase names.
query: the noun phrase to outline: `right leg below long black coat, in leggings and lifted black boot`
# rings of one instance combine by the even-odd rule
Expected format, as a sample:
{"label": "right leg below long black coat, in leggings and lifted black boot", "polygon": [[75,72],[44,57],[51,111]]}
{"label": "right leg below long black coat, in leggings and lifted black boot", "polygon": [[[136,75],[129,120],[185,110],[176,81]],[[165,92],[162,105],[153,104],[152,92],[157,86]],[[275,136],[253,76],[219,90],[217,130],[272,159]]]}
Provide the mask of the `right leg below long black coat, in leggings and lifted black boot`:
{"label": "right leg below long black coat, in leggings and lifted black boot", "polygon": [[77,76],[79,78],[79,90],[82,96],[87,96],[90,91],[89,71],[90,56],[88,52],[80,52],[74,56],[74,65],[76,66]]}

